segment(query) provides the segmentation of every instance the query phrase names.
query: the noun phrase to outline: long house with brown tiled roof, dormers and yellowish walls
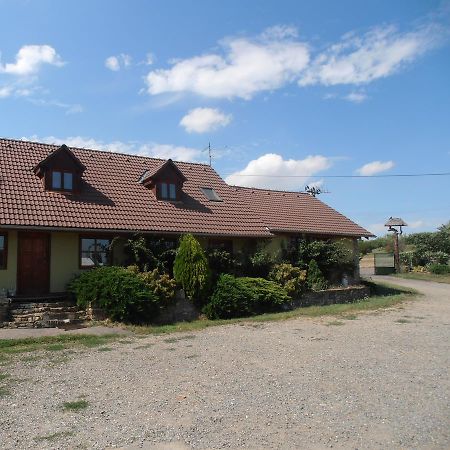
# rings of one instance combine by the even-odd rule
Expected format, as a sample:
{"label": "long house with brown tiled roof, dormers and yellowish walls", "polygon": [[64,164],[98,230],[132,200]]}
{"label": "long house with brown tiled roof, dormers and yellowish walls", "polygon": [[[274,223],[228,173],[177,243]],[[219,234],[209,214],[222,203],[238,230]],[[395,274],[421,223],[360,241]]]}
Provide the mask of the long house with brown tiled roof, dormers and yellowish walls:
{"label": "long house with brown tiled roof, dormers and yellowish walls", "polygon": [[308,194],[229,186],[205,164],[0,139],[0,292],[63,292],[83,270],[124,263],[115,237],[187,232],[232,251],[372,236]]}

